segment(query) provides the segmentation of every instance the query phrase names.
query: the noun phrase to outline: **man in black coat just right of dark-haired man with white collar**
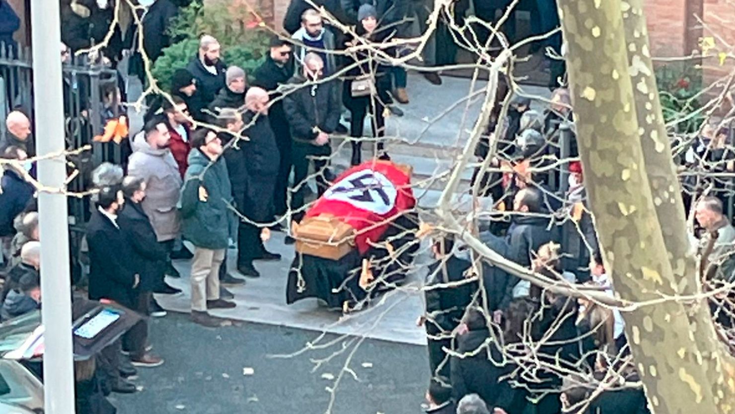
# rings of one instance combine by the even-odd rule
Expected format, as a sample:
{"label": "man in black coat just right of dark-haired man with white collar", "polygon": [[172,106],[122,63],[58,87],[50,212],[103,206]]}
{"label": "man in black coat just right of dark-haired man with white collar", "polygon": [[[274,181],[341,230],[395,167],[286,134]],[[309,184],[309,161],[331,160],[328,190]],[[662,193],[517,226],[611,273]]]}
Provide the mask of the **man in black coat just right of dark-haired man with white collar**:
{"label": "man in black coat just right of dark-haired man with white collar", "polygon": [[[137,307],[135,310],[143,315],[166,315],[152,293],[165,287],[163,281],[168,251],[158,243],[156,232],[153,229],[148,215],[140,202],[146,197],[146,182],[135,176],[126,176],[123,179],[123,196],[125,207],[118,219],[120,228],[129,245],[132,246],[132,256],[129,263],[137,274],[140,274],[140,286],[137,289]],[[181,290],[179,290],[180,292]]]}

